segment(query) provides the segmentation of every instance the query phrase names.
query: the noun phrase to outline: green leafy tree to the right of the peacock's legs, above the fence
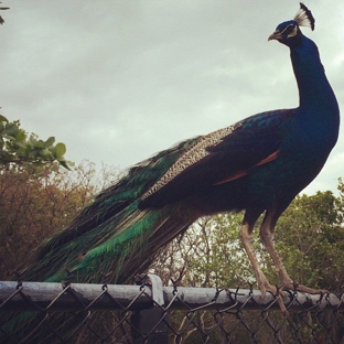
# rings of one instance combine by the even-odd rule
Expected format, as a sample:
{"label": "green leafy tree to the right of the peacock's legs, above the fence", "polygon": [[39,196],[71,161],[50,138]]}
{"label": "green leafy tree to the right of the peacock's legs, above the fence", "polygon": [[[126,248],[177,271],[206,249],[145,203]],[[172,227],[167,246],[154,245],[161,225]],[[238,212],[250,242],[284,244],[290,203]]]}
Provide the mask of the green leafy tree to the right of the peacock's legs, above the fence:
{"label": "green leafy tree to the right of the peacock's legs, above the fence", "polygon": [[280,217],[277,249],[299,283],[330,290],[344,283],[343,205],[332,192],[318,192],[298,196]]}

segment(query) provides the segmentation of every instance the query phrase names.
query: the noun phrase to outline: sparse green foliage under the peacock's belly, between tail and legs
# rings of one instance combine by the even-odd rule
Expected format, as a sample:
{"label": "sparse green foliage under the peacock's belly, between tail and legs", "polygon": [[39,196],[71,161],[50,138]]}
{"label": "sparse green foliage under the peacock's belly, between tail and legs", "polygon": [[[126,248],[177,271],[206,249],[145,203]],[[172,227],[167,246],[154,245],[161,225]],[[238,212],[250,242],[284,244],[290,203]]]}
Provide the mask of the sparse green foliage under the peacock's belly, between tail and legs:
{"label": "sparse green foliage under the peacock's belly, between tail and legs", "polygon": [[243,214],[203,217],[157,257],[152,269],[165,283],[183,277],[183,286],[245,286],[254,281],[238,230]]}

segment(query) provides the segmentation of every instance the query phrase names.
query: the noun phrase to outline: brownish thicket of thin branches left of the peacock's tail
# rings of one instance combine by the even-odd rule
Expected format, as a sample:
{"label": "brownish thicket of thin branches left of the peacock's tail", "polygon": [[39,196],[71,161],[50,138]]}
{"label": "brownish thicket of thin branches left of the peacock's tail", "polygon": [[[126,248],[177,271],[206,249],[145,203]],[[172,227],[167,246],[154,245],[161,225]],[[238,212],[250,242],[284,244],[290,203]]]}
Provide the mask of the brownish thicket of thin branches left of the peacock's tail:
{"label": "brownish thicket of thin branches left of the peacock's tail", "polygon": [[57,162],[22,164],[0,173],[0,279],[8,279],[47,237],[67,226],[117,172],[83,162],[72,171]]}

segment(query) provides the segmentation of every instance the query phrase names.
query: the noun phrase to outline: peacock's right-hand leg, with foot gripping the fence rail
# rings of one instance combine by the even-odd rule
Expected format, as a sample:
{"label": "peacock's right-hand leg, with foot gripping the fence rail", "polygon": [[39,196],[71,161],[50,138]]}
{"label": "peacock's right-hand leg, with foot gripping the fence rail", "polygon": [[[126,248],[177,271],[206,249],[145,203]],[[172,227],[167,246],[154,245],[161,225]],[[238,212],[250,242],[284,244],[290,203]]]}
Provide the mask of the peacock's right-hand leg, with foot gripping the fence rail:
{"label": "peacock's right-hand leg, with foot gripping the fence rail", "polygon": [[313,289],[302,284],[297,284],[289,276],[286,270],[286,267],[280,259],[276,247],[273,245],[273,229],[278,217],[282,212],[277,211],[276,208],[270,208],[267,211],[264,222],[260,227],[260,240],[269,252],[275,267],[279,273],[280,280],[282,282],[282,289],[294,290],[297,287],[298,291],[309,292],[311,294],[329,293],[327,290],[323,289]]}

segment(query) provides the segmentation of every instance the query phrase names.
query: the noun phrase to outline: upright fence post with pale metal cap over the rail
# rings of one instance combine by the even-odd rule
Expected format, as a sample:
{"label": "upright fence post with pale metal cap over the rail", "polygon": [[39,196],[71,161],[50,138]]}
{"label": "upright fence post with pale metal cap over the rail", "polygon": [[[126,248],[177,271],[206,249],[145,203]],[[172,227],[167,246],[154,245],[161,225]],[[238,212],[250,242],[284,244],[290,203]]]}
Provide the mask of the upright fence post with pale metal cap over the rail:
{"label": "upright fence post with pale metal cap over the rail", "polygon": [[144,284],[152,289],[153,307],[151,309],[136,311],[130,318],[133,344],[168,344],[169,327],[166,325],[168,313],[164,310],[163,288],[160,277],[147,275]]}

